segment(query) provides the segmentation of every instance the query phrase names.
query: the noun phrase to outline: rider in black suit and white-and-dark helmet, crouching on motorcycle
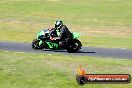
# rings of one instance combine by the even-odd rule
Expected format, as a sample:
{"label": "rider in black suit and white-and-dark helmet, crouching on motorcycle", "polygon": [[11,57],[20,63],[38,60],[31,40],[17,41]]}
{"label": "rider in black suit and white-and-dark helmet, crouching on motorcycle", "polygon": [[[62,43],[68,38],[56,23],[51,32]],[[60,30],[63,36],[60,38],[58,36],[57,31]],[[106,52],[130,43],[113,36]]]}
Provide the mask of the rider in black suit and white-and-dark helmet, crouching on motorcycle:
{"label": "rider in black suit and white-and-dark helmet, crouching on motorcycle", "polygon": [[56,31],[59,30],[60,35],[58,37],[53,37],[51,40],[60,40],[59,44],[62,46],[65,41],[68,41],[72,37],[72,33],[68,30],[66,25],[63,25],[63,22],[58,20],[55,22]]}

